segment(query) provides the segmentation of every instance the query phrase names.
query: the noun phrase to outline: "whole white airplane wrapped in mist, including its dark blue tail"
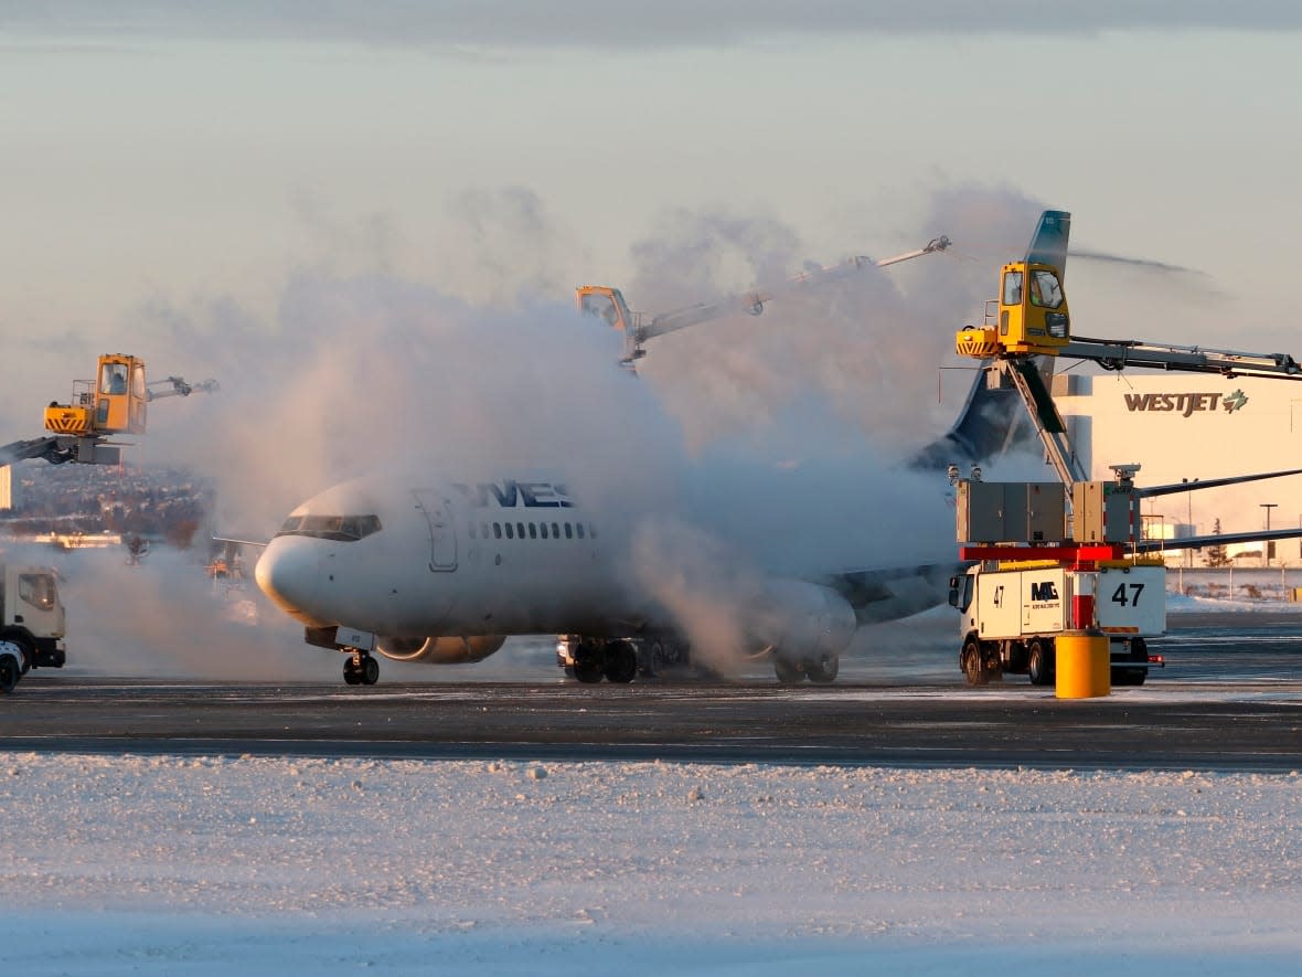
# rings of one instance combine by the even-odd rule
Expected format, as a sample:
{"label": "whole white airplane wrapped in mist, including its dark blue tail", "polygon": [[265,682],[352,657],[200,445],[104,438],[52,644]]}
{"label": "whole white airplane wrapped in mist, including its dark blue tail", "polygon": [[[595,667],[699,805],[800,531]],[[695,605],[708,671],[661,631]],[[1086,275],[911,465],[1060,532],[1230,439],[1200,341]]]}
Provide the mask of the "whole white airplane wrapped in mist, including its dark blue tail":
{"label": "whole white airplane wrapped in mist, including its dark blue tail", "polygon": [[[917,464],[943,473],[948,462],[980,461],[1008,447],[1021,410],[978,374],[953,430]],[[932,485],[930,473],[901,474],[913,479],[901,495],[926,496],[934,538],[924,548],[904,533],[894,548],[883,543],[881,552],[853,561],[799,569],[760,561],[747,572],[723,555],[694,577],[685,565],[699,542],[691,531],[661,545],[656,571],[639,576],[631,554],[647,541],[646,512],[629,502],[635,488],[596,488],[585,474],[486,466],[385,472],[336,485],[289,513],[255,578],[303,625],[309,645],[346,655],[352,685],[378,680],[378,655],[478,662],[509,636],[538,634],[559,636],[557,663],[581,683],[710,667],[716,659],[707,646],[720,640],[747,659],[771,660],[779,681],[792,684],[835,681],[861,627],[944,603],[958,568],[948,486],[937,479],[934,490],[919,488]],[[618,475],[629,486],[648,477],[628,466]],[[801,517],[815,513],[784,515],[764,516],[737,535],[767,538],[772,550],[794,546]],[[853,495],[845,518],[892,517],[867,512]],[[713,607],[713,624],[727,619],[724,638],[695,620],[694,598],[725,604]]]}

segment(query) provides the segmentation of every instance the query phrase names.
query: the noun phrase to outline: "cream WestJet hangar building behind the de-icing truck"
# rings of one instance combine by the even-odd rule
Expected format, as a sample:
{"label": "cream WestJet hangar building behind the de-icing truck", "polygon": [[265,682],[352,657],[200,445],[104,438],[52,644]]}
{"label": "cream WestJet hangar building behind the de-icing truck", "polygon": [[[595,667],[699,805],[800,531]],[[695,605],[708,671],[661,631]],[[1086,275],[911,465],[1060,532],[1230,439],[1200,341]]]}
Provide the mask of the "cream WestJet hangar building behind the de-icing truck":
{"label": "cream WestJet hangar building behind the de-icing truck", "polygon": [[[1091,478],[1138,462],[1141,486],[1302,468],[1302,382],[1143,374],[1053,378],[1053,399]],[[1302,521],[1302,477],[1146,500],[1150,530],[1193,524],[1211,533]],[[1281,552],[1295,547],[1282,547]],[[1197,560],[1195,560],[1197,561]]]}

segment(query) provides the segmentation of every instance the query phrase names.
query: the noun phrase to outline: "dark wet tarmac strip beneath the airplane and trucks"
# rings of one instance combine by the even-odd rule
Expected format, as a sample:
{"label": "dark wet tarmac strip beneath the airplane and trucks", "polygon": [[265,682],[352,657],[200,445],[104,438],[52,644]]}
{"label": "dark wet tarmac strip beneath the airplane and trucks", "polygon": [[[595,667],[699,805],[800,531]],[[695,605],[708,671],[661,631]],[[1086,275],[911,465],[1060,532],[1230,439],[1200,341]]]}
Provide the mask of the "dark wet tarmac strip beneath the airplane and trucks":
{"label": "dark wet tarmac strip beneath the airplane and trucks", "polygon": [[405,681],[444,671],[385,663],[370,688],[40,670],[0,700],[0,736],[5,749],[43,752],[1302,769],[1295,619],[1191,621],[1152,644],[1164,671],[1098,700],[1057,700],[1025,676],[969,688],[936,642],[852,659],[836,685],[797,688],[764,672],[583,687],[542,660],[525,681]]}

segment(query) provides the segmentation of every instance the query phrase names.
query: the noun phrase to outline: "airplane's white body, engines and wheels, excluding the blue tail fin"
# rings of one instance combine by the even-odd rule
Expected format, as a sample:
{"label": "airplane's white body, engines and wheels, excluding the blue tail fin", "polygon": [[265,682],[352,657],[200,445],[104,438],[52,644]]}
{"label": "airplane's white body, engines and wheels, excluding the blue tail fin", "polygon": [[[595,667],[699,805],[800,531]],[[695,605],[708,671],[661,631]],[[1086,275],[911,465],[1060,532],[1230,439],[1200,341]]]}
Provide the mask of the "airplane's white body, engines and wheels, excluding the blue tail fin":
{"label": "airplane's white body, engines and wheels, excluding the blue tail fin", "polygon": [[[681,607],[629,573],[635,520],[586,505],[581,485],[354,479],[298,505],[255,577],[307,644],[349,655],[349,684],[375,683],[376,654],[478,662],[513,634],[561,636],[561,663],[585,683],[687,664]],[[944,520],[939,488],[935,508]],[[957,560],[952,542],[948,559],[943,550],[897,567],[742,577],[717,597],[734,599],[746,653],[771,657],[781,681],[829,683],[861,625],[945,599]]]}

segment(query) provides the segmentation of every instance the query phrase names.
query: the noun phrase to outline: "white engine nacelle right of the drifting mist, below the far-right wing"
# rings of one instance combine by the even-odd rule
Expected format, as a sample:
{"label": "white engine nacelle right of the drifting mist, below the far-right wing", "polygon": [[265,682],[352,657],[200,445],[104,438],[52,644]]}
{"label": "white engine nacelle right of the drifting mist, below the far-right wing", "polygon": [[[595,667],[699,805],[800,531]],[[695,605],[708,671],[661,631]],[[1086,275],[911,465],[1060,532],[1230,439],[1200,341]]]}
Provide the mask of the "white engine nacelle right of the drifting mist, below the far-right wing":
{"label": "white engine nacelle right of the drifting mist, below the far-right wing", "polygon": [[838,655],[854,638],[854,608],[835,590],[803,580],[775,580],[746,621],[760,646],[781,658]]}

